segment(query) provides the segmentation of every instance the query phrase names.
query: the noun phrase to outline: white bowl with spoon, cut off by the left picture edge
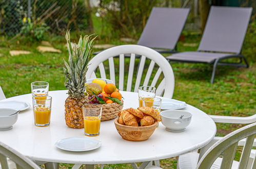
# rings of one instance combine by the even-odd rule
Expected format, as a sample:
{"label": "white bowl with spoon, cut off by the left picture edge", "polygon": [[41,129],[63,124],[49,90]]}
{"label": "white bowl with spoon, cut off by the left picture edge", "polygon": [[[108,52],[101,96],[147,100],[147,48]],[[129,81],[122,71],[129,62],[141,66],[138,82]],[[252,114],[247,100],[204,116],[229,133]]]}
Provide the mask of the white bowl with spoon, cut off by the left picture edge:
{"label": "white bowl with spoon, cut off by the left picture edge", "polygon": [[17,110],[6,108],[0,109],[0,131],[12,129],[12,125],[18,119],[18,113],[11,115],[15,112],[17,112]]}

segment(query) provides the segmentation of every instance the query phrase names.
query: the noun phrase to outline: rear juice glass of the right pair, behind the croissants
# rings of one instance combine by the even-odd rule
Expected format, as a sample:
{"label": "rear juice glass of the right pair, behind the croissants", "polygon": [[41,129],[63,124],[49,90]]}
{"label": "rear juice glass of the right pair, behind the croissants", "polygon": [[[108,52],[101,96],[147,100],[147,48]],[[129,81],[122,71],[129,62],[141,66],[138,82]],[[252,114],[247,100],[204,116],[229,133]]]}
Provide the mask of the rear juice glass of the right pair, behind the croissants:
{"label": "rear juice glass of the right pair, behind the croissants", "polygon": [[149,97],[151,99],[153,99],[155,97],[155,87],[152,86],[141,86],[139,87],[138,93],[139,93],[139,107],[143,106],[143,102],[142,99],[144,97]]}

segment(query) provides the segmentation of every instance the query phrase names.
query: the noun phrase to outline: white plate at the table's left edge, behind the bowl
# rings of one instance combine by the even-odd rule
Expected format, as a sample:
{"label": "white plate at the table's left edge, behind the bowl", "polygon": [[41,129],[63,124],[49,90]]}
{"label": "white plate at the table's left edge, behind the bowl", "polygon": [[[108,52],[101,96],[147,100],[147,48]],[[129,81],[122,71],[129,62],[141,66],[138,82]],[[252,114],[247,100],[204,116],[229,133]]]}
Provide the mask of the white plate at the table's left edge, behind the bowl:
{"label": "white plate at the table's left edge, behind the bowl", "polygon": [[0,108],[9,108],[17,111],[23,111],[30,108],[30,104],[28,102],[22,101],[3,101],[0,102]]}

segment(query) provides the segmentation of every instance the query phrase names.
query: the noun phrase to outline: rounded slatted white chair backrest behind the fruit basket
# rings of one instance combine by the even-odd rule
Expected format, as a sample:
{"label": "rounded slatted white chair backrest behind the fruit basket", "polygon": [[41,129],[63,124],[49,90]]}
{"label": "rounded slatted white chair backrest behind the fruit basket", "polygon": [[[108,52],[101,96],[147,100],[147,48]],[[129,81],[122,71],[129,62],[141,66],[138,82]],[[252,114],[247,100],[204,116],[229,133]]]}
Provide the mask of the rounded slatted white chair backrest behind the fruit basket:
{"label": "rounded slatted white chair backrest behind the fruit basket", "polygon": [[[124,57],[124,54],[130,54],[130,57]],[[140,59],[135,60],[135,55],[141,55]],[[137,92],[140,86],[154,86],[157,88],[156,95],[161,96],[164,93],[164,97],[172,98],[174,90],[172,68],[165,57],[155,50],[140,45],[121,45],[106,49],[91,59],[86,78],[96,78],[94,71],[97,67],[99,67],[101,78],[109,78],[105,71],[105,68],[108,70],[107,60],[110,79],[121,91]],[[115,71],[114,65],[118,64],[116,69],[119,68],[119,70]],[[134,69],[136,64],[137,69]],[[125,70],[128,71],[125,72]],[[118,85],[116,79],[119,79]]]}

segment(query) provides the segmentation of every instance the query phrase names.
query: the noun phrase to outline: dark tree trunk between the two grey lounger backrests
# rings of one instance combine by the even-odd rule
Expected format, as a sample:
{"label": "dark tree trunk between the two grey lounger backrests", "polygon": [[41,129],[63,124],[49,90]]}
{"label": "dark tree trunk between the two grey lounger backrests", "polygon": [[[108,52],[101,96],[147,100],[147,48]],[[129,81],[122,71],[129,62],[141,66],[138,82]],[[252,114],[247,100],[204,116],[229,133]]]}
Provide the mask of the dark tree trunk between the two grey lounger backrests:
{"label": "dark tree trunk between the two grey lounger backrests", "polygon": [[208,17],[208,13],[210,10],[210,4],[208,0],[199,0],[199,11],[200,11],[200,29],[203,32],[206,24],[206,20]]}

